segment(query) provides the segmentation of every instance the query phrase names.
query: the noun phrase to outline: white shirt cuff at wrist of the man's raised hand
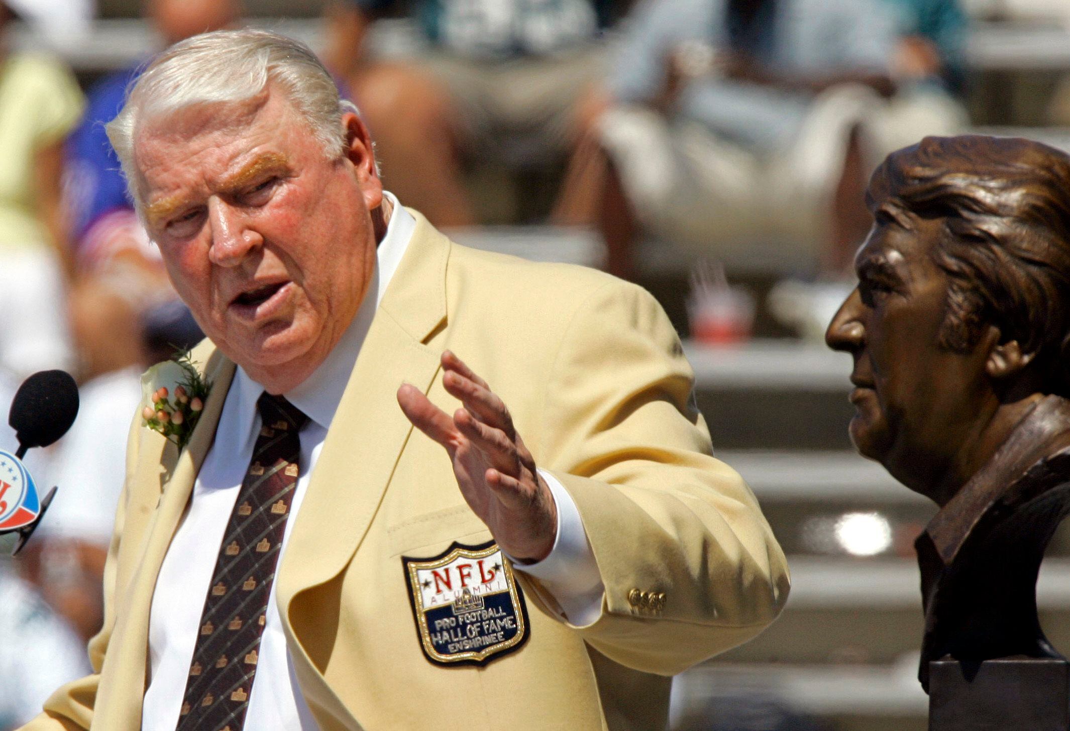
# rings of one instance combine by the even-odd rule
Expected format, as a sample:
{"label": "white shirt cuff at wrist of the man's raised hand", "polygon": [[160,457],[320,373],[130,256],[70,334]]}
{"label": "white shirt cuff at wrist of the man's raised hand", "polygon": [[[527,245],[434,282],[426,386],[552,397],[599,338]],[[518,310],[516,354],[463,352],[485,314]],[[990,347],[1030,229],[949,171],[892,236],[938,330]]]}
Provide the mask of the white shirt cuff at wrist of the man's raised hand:
{"label": "white shirt cuff at wrist of the man's raised hand", "polygon": [[553,594],[571,624],[583,627],[592,624],[601,613],[606,588],[572,496],[549,472],[539,470],[538,473],[549,486],[557,506],[557,536],[550,553],[541,561],[524,564],[513,557],[509,559],[515,568],[538,579]]}

